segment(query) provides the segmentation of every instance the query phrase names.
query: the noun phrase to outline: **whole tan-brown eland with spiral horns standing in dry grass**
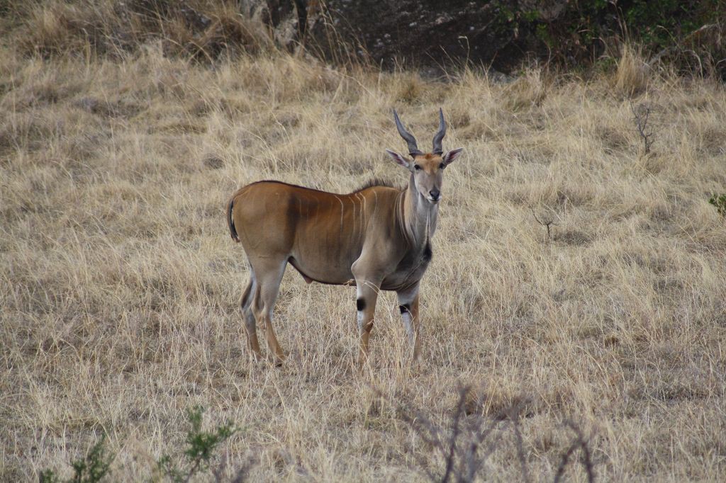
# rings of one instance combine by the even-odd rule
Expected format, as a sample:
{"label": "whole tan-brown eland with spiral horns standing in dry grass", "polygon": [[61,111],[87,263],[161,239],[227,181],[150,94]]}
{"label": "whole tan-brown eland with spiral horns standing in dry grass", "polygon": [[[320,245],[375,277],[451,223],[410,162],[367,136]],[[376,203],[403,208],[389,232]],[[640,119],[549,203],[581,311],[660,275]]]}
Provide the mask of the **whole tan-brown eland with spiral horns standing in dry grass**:
{"label": "whole tan-brown eland with spiral horns standing in dry grass", "polygon": [[431,261],[444,168],[463,148],[444,154],[446,123],[441,110],[429,153],[418,149],[395,110],[393,118],[409,156],[386,152],[409,171],[405,189],[374,182],[350,194],[334,194],[258,181],[229,200],[229,232],[242,243],[250,263],[250,281],[240,305],[248,345],[256,358],[260,357],[256,323],[260,323],[274,360],[285,359],[272,329],[272,307],[288,263],[307,283],[356,286],[361,363],[368,355],[378,292],[396,291],[413,356],[419,357],[419,284]]}

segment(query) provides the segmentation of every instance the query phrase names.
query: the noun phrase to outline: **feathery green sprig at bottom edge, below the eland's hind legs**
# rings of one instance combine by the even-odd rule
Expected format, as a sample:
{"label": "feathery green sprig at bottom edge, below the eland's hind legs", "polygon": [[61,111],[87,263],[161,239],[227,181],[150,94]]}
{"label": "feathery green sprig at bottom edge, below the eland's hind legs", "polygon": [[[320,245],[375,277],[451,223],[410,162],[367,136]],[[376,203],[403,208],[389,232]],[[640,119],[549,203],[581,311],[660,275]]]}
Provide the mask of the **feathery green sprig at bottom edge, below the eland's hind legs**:
{"label": "feathery green sprig at bottom edge, below the eland's hind legs", "polygon": [[203,432],[203,413],[204,409],[198,405],[187,410],[187,418],[192,425],[192,428],[187,432],[187,449],[184,450],[184,456],[187,459],[187,470],[180,469],[179,464],[175,463],[170,455],[163,455],[157,462],[161,474],[167,476],[175,483],[188,482],[192,476],[195,476],[201,471],[207,471],[209,469],[209,461],[213,457],[217,447],[237,432],[237,429],[232,424],[217,426],[213,432]]}

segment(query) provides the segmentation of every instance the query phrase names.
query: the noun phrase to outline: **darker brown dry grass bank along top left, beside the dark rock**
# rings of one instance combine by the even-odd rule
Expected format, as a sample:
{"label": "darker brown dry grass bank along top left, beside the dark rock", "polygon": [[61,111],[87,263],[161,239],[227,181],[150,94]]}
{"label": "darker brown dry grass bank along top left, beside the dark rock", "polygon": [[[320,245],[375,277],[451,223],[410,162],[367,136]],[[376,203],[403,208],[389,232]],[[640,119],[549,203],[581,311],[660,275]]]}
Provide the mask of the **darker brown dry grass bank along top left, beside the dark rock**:
{"label": "darker brown dry grass bank along top left, beside the dark rock", "polygon": [[120,58],[150,41],[167,55],[203,62],[272,49],[264,25],[230,0],[45,0],[14,2],[9,10],[20,19],[13,39],[20,51],[46,58]]}

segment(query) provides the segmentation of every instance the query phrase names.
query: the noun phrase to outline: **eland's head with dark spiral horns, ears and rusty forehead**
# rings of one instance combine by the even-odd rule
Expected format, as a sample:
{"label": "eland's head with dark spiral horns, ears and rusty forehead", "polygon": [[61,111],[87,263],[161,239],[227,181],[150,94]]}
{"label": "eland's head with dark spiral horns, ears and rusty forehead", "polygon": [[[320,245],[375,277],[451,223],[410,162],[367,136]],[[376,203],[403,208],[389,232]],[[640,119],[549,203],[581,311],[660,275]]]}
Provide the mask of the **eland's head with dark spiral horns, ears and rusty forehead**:
{"label": "eland's head with dark spiral horns, ears and rusty forehead", "polygon": [[411,172],[417,193],[432,205],[436,205],[441,199],[444,168],[454,162],[464,148],[452,149],[444,154],[444,149],[441,148],[441,140],[446,135],[446,123],[444,122],[444,112],[441,109],[439,109],[439,131],[436,131],[433,136],[433,149],[428,153],[421,152],[418,149],[415,137],[413,137],[412,133],[406,131],[403,124],[401,124],[396,110],[393,110],[393,119],[396,120],[396,128],[398,128],[399,134],[408,144],[409,157],[391,151],[391,149],[386,149],[386,152],[394,161]]}

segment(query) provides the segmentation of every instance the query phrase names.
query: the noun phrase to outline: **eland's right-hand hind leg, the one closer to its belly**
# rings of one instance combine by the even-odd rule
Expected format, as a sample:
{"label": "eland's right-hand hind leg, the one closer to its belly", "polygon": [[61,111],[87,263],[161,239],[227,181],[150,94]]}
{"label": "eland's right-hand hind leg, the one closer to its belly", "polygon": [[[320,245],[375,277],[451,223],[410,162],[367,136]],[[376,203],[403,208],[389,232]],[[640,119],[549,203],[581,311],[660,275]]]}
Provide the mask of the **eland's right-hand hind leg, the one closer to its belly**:
{"label": "eland's right-hand hind leg, the one closer to its belly", "polygon": [[285,273],[285,260],[250,260],[255,272],[255,290],[252,297],[252,312],[256,320],[265,328],[267,347],[272,352],[274,362],[278,365],[285,360],[285,352],[282,352],[280,343],[277,342],[274,329],[272,328],[272,309],[280,292],[280,282]]}

